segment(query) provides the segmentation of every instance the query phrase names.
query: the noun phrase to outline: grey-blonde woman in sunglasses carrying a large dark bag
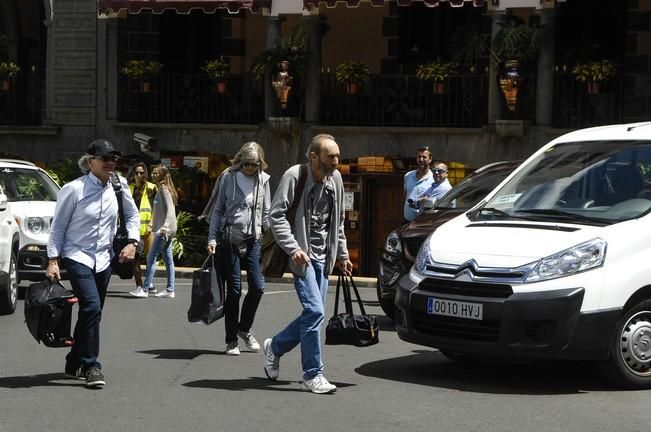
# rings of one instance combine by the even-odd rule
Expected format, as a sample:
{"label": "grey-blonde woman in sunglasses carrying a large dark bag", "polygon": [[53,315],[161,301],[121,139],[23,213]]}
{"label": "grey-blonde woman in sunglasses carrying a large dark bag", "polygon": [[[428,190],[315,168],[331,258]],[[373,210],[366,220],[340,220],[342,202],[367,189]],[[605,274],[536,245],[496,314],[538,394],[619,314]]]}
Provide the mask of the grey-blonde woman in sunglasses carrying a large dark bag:
{"label": "grey-blonde woman in sunglasses carrying a large dark bag", "polygon": [[[260,269],[260,240],[269,228],[271,192],[264,150],[255,142],[240,148],[232,165],[219,177],[219,192],[210,217],[208,252],[219,251],[226,301],[224,326],[226,354],[239,355],[238,337],[253,352],[260,344],[251,327],[264,292]],[[247,274],[248,292],[240,312],[241,270]]]}

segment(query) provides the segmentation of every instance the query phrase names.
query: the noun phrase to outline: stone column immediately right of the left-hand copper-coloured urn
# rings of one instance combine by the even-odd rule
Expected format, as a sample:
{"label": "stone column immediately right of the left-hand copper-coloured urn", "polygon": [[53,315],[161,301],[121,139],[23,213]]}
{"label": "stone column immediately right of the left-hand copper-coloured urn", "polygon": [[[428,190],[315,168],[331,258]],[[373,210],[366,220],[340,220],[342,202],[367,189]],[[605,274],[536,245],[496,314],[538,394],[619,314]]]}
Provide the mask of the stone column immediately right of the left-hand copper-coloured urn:
{"label": "stone column immediately right of the left-hand copper-coloured urn", "polygon": [[303,21],[309,53],[305,68],[305,121],[318,123],[321,108],[321,21],[318,14],[306,15]]}

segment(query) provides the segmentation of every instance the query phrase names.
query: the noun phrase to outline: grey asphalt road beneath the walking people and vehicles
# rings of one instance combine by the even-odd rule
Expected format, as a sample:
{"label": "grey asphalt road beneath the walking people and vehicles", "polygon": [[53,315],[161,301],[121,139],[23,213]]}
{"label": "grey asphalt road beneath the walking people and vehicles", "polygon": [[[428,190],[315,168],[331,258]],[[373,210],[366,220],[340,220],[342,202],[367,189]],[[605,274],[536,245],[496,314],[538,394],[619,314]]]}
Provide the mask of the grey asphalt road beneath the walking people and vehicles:
{"label": "grey asphalt road beneath the walking people and vehicles", "polygon": [[[22,301],[0,316],[0,431],[649,430],[649,391],[611,389],[575,363],[457,364],[400,341],[386,319],[378,345],[325,348],[337,393],[306,393],[298,349],[282,358],[280,379],[268,381],[261,353],[223,354],[222,321],[187,322],[191,280],[177,282],[174,300],[135,299],[129,283],[113,280],[101,390],[63,378],[66,350],[31,338]],[[360,291],[379,314],[375,289]],[[269,284],[256,337],[262,342],[297,312],[293,287]]]}

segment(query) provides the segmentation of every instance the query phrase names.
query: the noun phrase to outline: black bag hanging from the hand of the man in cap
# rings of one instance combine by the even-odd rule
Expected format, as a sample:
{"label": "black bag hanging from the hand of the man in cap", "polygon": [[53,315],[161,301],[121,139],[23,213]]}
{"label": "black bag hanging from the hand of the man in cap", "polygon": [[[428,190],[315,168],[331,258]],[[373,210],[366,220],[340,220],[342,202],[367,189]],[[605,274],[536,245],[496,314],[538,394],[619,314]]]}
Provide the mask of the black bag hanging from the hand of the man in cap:
{"label": "black bag hanging from the hand of the man in cap", "polygon": [[77,297],[61,282],[44,279],[25,290],[25,323],[37,342],[51,348],[70,347],[72,305]]}

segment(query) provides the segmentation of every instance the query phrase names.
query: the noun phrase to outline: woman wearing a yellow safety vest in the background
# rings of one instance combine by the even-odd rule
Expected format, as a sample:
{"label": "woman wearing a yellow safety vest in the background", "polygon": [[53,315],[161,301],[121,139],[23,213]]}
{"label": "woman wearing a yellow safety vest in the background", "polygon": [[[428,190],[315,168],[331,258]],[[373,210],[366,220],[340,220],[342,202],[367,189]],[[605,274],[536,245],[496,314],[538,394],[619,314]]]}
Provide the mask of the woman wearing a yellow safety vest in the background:
{"label": "woman wearing a yellow safety vest in the background", "polygon": [[140,243],[136,249],[133,260],[133,276],[136,280],[136,289],[129,292],[134,297],[147,297],[149,293],[142,287],[142,270],[140,263],[147,256],[154,236],[151,233],[152,203],[156,196],[156,185],[147,181],[149,172],[144,162],[138,162],[131,168],[129,175],[130,189],[133,200],[140,211]]}

